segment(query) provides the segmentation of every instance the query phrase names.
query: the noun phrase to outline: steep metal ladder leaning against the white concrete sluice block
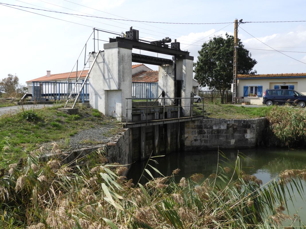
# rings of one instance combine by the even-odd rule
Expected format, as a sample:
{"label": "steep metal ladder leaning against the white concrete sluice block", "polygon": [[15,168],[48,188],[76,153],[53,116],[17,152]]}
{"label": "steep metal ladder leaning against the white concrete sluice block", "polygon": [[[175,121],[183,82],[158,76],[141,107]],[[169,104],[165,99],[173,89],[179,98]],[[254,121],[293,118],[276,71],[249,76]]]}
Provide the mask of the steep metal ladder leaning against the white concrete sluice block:
{"label": "steep metal ladder leaning against the white concrete sluice block", "polygon": [[[86,77],[85,77],[85,79],[84,79],[84,82],[82,83],[81,87],[79,88],[79,91],[76,92],[75,90],[76,90],[76,88],[77,88],[77,82],[79,81],[81,75],[82,75],[82,74],[85,74],[85,73],[83,73],[83,71],[84,71],[84,68],[85,68],[85,66],[86,66],[86,64],[88,63],[88,61],[89,61],[90,58],[88,58],[88,60],[87,60],[86,63],[84,64],[83,70],[81,71],[79,77],[76,79],[76,83],[74,84],[74,87],[73,87],[73,89],[71,90],[71,92],[70,92],[70,94],[69,94],[69,96],[68,96],[68,99],[67,99],[67,101],[66,101],[64,107],[69,107],[69,108],[74,108],[74,107],[75,107],[75,105],[76,105],[76,103],[77,103],[77,100],[79,99],[80,94],[81,94],[82,91],[83,91],[84,85],[85,85],[86,82],[87,82],[87,79],[88,79],[88,76],[89,76],[89,74],[90,74],[90,72],[91,72],[92,66],[95,64],[95,61],[97,60],[97,57],[98,57],[98,55],[99,55],[100,52],[101,52],[101,51],[99,51],[98,53],[96,53],[95,59],[94,59],[93,63],[91,64],[91,67],[89,68],[89,71],[88,71],[88,73],[87,73],[87,75],[86,75]],[[91,52],[91,55],[92,55],[93,53],[95,53],[95,52]],[[68,82],[69,82],[69,81],[68,81]],[[68,87],[69,87],[69,86],[68,86]],[[76,97],[73,98],[73,96],[74,96],[76,93],[77,93]],[[74,101],[73,104],[69,104],[69,101],[70,101],[70,100]]]}

